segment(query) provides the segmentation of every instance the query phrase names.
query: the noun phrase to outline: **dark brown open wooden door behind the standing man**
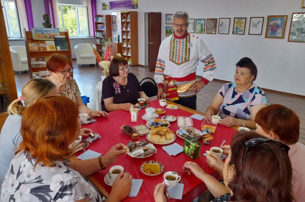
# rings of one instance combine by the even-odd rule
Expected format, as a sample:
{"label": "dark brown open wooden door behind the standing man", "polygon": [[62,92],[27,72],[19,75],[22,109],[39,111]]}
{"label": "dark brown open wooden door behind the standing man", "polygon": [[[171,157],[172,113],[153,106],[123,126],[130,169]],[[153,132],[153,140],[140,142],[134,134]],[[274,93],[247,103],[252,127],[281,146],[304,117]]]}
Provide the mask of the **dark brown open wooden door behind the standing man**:
{"label": "dark brown open wooden door behind the standing man", "polygon": [[149,71],[155,71],[156,62],[159,53],[159,47],[161,44],[161,13],[150,12],[149,13]]}

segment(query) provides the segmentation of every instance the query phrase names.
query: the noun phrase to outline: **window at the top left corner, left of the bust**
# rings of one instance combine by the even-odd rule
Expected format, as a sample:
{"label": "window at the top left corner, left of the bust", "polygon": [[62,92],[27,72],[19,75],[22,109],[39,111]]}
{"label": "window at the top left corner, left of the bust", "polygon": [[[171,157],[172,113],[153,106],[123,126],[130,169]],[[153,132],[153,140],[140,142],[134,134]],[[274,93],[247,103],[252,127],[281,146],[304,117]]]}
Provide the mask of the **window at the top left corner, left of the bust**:
{"label": "window at the top left corner, left of the bust", "polygon": [[1,5],[3,7],[7,36],[21,38],[21,28],[16,0],[1,0]]}

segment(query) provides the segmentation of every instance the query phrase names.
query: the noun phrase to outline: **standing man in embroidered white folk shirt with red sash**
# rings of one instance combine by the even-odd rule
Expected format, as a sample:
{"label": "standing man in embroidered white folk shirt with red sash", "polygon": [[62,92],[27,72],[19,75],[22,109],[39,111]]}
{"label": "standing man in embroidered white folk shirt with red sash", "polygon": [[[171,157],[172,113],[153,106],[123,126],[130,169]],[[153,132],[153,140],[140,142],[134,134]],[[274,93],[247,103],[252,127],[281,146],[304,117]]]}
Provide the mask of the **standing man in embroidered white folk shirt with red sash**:
{"label": "standing man in embroidered white folk shirt with red sash", "polygon": [[[172,16],[174,34],[162,41],[159,49],[155,81],[158,99],[165,98],[196,110],[196,94],[213,80],[216,64],[203,40],[190,35],[188,13],[176,11]],[[204,63],[203,75],[196,81],[199,60]]]}

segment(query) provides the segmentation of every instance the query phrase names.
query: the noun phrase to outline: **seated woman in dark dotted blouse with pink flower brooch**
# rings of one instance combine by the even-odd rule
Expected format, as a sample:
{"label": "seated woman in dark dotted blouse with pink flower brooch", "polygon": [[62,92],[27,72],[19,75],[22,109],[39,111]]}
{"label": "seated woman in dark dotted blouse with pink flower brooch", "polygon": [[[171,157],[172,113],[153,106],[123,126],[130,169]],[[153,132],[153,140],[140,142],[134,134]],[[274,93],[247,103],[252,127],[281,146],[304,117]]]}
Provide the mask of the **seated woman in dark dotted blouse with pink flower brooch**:
{"label": "seated woman in dark dotted blouse with pink flower brooch", "polygon": [[143,92],[137,77],[128,73],[129,65],[123,57],[113,57],[109,76],[104,79],[102,86],[102,110],[112,112],[116,110],[129,111],[131,105],[138,103],[139,98],[150,102]]}

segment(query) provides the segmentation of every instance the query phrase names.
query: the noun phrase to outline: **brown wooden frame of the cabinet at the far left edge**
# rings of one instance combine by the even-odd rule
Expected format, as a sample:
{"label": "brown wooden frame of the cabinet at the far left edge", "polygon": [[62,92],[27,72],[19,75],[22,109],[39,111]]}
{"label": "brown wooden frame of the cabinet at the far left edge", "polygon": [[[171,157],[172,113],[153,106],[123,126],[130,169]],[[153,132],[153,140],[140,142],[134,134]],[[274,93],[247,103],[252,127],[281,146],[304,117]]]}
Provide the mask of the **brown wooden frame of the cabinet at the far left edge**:
{"label": "brown wooden frame of the cabinet at the far left edge", "polygon": [[[8,99],[6,106],[9,106],[9,104],[13,100],[17,99],[18,96],[11,53],[9,51],[9,40],[6,35],[5,21],[2,9],[0,9],[0,33],[2,33],[0,34],[0,94],[5,94],[7,96]],[[0,108],[3,110],[2,104],[0,104]],[[2,129],[2,126],[8,116],[8,113],[0,112],[0,130]]]}

